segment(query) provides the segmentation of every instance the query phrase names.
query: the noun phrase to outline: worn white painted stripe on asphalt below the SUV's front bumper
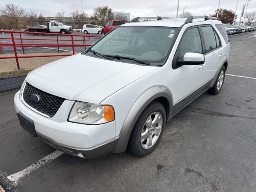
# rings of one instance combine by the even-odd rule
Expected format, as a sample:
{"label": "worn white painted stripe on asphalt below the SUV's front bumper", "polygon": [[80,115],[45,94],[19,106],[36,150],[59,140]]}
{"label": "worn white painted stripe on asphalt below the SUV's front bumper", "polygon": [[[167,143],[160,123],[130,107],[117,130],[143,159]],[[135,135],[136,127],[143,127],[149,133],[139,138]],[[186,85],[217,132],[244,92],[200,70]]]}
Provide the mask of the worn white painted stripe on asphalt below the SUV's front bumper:
{"label": "worn white painted stripe on asphalt below the SUV's front bumper", "polygon": [[8,180],[13,182],[14,186],[17,186],[19,180],[23,177],[25,177],[26,175],[30,174],[31,172],[33,172],[34,170],[37,170],[38,168],[40,168],[42,165],[47,164],[48,162],[51,162],[52,160],[54,160],[55,158],[57,158],[58,156],[61,156],[63,154],[62,151],[56,150],[53,153],[49,154],[48,156],[45,156],[44,158],[42,158],[41,160],[39,160],[38,162],[28,166],[27,168],[25,168],[22,171],[19,171],[17,173],[14,173],[10,176],[8,176]]}

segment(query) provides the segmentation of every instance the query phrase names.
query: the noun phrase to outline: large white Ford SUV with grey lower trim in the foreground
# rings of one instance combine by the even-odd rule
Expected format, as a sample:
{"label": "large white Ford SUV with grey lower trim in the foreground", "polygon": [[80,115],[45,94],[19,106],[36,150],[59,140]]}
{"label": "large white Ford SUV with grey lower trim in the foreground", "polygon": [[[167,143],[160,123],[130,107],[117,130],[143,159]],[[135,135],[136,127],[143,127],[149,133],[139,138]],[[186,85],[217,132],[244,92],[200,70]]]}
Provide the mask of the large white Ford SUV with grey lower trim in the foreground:
{"label": "large white Ford SUV with grey lower trim in the foreground", "polygon": [[126,23],[30,72],[15,109],[23,128],[67,154],[146,156],[175,114],[206,90],[220,92],[229,54],[217,18]]}

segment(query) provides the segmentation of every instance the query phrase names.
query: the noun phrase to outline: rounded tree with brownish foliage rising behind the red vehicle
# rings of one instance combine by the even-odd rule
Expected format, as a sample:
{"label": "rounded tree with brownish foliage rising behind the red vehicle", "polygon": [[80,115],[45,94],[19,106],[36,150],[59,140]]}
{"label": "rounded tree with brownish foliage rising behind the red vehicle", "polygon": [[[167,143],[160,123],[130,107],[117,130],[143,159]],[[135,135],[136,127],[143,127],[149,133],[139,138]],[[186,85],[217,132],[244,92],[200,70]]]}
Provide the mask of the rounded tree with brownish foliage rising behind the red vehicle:
{"label": "rounded tree with brownish foliage rising behind the red vehicle", "polygon": [[105,25],[107,21],[113,19],[112,8],[109,8],[108,6],[98,6],[94,8],[93,14],[98,20],[101,21],[102,25]]}

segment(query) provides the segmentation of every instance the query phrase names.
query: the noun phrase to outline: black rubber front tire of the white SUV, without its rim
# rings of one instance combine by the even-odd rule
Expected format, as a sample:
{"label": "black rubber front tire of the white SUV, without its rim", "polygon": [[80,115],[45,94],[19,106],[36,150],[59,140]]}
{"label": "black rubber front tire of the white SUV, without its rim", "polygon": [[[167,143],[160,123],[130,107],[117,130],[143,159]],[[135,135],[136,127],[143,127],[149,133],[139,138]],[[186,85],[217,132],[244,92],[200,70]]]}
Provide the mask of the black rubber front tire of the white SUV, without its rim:
{"label": "black rubber front tire of the white SUV, without its rim", "polygon": [[[160,112],[162,115],[162,119],[163,119],[162,130],[156,143],[151,148],[144,149],[142,148],[142,145],[140,143],[142,128],[144,123],[146,122],[146,119],[150,116],[150,114],[154,112]],[[134,154],[137,157],[143,157],[153,152],[162,137],[165,123],[166,123],[166,111],[164,106],[160,102],[152,102],[151,104],[149,104],[145,108],[145,110],[142,112],[140,117],[138,118],[136,124],[134,125],[134,129],[132,130],[132,134],[129,140],[130,152],[132,152],[132,154]]]}

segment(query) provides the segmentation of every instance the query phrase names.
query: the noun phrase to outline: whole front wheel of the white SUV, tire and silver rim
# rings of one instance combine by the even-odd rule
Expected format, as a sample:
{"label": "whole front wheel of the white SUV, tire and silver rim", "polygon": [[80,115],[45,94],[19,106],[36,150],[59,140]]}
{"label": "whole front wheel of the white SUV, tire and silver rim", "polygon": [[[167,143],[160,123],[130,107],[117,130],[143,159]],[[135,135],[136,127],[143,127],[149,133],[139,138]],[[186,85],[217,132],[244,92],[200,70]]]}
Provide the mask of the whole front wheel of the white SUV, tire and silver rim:
{"label": "whole front wheel of the white SUV, tire and silver rim", "polygon": [[136,157],[144,157],[158,145],[166,122],[166,111],[159,102],[150,103],[142,112],[130,135],[128,150]]}

